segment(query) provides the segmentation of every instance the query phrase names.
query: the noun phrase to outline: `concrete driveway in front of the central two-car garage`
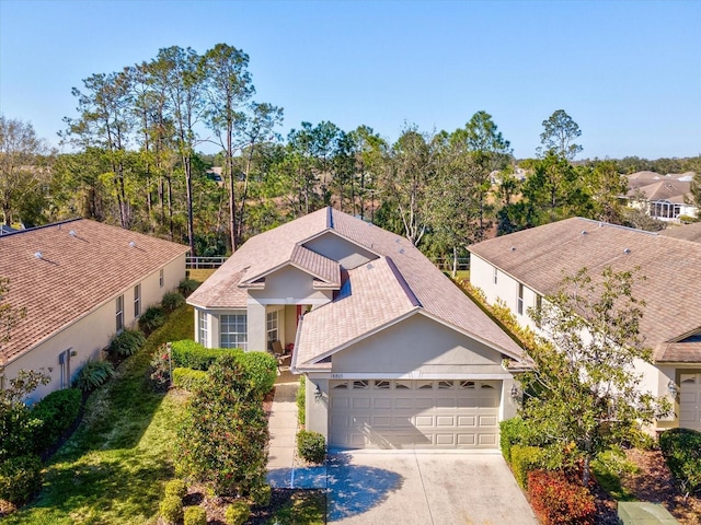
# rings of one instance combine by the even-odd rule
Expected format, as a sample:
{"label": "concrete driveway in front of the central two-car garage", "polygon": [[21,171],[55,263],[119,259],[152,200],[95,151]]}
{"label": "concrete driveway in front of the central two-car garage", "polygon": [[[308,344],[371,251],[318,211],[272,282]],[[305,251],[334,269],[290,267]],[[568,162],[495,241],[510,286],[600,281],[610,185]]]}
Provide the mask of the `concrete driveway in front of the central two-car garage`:
{"label": "concrete driveway in front of the central two-car garage", "polygon": [[354,451],[326,468],[327,523],[538,523],[499,454]]}

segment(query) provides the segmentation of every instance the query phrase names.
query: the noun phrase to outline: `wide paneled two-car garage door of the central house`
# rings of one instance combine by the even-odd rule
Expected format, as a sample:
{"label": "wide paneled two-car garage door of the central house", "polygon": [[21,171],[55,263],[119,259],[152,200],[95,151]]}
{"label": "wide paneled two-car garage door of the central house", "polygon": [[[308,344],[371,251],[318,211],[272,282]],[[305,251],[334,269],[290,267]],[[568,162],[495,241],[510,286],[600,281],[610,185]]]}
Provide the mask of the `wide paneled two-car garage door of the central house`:
{"label": "wide paneled two-car garage door of the central house", "polygon": [[330,382],[331,446],[496,448],[501,381]]}

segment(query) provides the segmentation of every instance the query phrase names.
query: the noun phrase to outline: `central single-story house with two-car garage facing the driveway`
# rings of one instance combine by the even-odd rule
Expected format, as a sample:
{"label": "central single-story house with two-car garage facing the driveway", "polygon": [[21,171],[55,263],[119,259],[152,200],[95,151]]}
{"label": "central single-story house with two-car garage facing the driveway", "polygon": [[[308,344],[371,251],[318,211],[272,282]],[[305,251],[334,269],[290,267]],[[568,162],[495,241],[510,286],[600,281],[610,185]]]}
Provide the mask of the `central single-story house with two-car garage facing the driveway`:
{"label": "central single-story house with two-car garage facing the driveway", "polygon": [[332,208],[252,237],[187,302],[207,347],[294,342],[332,447],[496,448],[516,411],[520,348],[406,238]]}

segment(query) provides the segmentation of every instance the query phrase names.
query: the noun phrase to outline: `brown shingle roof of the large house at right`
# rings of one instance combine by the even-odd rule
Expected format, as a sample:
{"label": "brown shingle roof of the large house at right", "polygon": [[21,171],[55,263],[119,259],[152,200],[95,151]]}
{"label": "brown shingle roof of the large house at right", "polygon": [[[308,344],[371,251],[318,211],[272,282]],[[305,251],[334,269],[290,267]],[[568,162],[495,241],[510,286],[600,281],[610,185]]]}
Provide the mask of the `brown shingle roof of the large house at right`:
{"label": "brown shingle roof of the large house at right", "polygon": [[645,301],[640,325],[645,345],[657,361],[698,361],[691,345],[685,354],[669,343],[701,330],[699,243],[573,218],[484,241],[470,252],[541,295],[554,293],[564,276],[584,267],[594,279],[607,266],[616,271],[640,267],[645,279],[633,294]]}

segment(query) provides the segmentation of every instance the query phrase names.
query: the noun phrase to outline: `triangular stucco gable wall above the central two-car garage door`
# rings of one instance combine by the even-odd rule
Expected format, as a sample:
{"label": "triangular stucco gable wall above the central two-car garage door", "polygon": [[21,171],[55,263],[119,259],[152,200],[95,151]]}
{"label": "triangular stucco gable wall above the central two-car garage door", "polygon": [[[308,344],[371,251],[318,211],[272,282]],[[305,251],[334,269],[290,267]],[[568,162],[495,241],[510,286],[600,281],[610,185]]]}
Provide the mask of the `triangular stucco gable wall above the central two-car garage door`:
{"label": "triangular stucco gable wall above the central two-car garage door", "polygon": [[341,350],[332,362],[334,373],[504,373],[498,352],[422,314]]}

